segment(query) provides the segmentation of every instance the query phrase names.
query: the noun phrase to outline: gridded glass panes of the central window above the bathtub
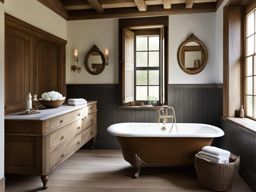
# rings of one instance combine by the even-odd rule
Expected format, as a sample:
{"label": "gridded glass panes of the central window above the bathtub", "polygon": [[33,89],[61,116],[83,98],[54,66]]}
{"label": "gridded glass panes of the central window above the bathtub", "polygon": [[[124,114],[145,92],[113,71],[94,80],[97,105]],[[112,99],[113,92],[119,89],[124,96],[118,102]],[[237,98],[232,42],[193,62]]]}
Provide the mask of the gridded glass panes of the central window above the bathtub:
{"label": "gridded glass panes of the central window above the bathtub", "polygon": [[159,35],[137,35],[135,48],[136,100],[159,101]]}

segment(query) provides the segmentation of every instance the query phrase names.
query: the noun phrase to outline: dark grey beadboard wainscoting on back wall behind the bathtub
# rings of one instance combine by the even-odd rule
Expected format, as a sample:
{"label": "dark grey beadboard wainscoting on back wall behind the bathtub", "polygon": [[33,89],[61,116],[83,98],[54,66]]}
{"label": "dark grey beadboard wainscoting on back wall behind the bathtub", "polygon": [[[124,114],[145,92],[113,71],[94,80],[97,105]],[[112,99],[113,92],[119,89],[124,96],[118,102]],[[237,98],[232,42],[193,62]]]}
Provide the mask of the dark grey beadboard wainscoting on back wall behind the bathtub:
{"label": "dark grey beadboard wainscoting on back wall behind the bathtub", "polygon": [[[98,101],[98,135],[96,148],[118,148],[107,127],[119,122],[157,122],[158,111],[119,109],[117,84],[68,84],[67,97],[83,97]],[[216,84],[168,87],[168,105],[176,111],[177,122],[220,124],[222,86]]]}

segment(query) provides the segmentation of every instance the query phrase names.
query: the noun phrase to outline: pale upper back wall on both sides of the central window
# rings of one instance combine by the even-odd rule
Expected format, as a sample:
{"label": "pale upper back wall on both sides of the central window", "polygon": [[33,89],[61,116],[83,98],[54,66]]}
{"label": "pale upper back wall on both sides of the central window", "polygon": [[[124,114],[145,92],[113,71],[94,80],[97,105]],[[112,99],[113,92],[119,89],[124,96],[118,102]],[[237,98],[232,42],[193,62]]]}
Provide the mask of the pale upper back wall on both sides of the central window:
{"label": "pale upper back wall on both sides of the central window", "polygon": [[[197,75],[184,73],[177,61],[177,50],[189,33],[194,33],[208,48],[209,60],[205,69]],[[112,84],[118,83],[118,19],[96,19],[68,21],[67,25],[67,68],[68,84]],[[84,57],[93,44],[101,50],[109,48],[110,62],[103,73],[90,75],[84,67]],[[72,52],[80,50],[81,73],[71,72]],[[169,16],[169,83],[203,84],[216,83],[215,13],[186,14]]]}

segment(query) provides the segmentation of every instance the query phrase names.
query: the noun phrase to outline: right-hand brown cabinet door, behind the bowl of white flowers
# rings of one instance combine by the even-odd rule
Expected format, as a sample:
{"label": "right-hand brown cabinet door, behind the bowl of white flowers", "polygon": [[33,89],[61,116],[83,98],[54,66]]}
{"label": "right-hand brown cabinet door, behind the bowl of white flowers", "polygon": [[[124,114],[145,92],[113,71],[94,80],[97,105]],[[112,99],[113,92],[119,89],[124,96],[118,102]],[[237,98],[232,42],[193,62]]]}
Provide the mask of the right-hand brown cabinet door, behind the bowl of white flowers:
{"label": "right-hand brown cabinet door, behind the bowl of white flowers", "polygon": [[35,42],[36,92],[60,91],[61,46],[44,39]]}

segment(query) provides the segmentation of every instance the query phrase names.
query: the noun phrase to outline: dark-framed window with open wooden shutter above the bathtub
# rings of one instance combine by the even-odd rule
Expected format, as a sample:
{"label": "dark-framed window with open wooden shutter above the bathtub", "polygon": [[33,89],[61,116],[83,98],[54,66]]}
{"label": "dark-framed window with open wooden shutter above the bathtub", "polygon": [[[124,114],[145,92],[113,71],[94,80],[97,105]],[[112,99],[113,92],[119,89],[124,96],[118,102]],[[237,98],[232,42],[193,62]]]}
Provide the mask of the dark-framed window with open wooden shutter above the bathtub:
{"label": "dark-framed window with open wooden shutter above the bathtub", "polygon": [[166,104],[168,17],[131,20],[119,20],[122,104]]}

